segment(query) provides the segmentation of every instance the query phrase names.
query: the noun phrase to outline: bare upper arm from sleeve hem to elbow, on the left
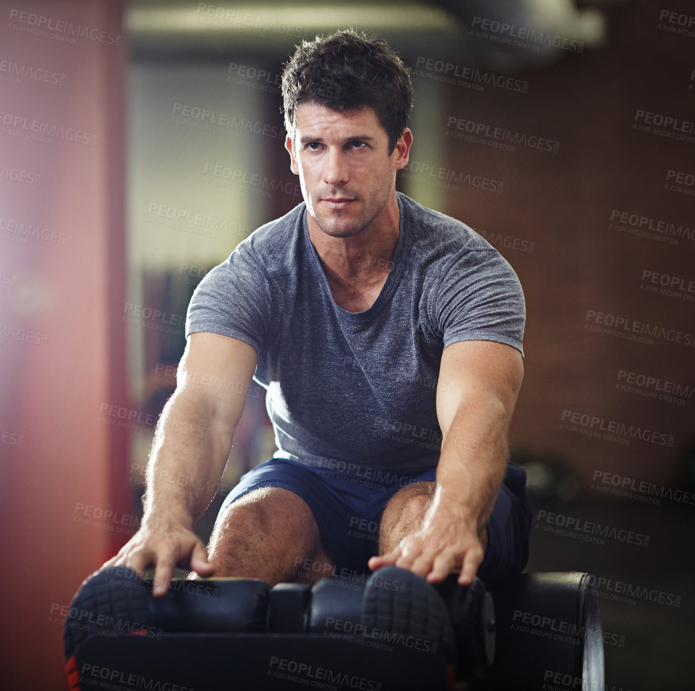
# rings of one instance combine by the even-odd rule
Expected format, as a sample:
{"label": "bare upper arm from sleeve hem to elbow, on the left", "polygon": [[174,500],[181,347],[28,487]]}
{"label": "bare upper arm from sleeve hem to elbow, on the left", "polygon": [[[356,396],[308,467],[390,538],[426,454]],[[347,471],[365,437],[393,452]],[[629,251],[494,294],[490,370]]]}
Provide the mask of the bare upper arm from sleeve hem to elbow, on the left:
{"label": "bare upper arm from sleeve hem to elbow, on the left", "polygon": [[243,413],[258,356],[231,336],[196,332],[188,336],[177,371],[177,393],[195,393],[208,412],[236,428]]}

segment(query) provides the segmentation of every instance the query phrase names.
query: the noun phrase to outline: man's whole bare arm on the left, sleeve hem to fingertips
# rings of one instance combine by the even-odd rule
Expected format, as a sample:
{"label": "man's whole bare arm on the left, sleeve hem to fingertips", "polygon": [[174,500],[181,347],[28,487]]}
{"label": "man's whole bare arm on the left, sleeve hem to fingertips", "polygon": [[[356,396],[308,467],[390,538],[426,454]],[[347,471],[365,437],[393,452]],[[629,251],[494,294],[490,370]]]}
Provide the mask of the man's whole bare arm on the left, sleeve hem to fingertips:
{"label": "man's whole bare arm on the left, sleeve hem to fingertips", "polygon": [[193,526],[215,496],[255,368],[247,343],[191,334],[154,434],[140,530],[105,567],[154,564],[156,595],[166,592],[177,565],[213,574]]}

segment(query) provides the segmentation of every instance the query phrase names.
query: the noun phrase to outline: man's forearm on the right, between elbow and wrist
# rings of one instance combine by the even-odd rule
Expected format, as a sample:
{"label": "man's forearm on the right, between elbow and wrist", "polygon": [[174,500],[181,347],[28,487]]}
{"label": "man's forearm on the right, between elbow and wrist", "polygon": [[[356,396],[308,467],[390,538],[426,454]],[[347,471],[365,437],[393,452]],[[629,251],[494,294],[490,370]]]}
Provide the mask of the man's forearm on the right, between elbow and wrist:
{"label": "man's forearm on the right, between elbow and wrist", "polygon": [[471,521],[482,533],[505,477],[508,423],[494,396],[457,409],[442,440],[432,512]]}

